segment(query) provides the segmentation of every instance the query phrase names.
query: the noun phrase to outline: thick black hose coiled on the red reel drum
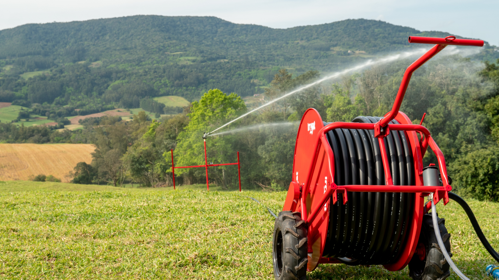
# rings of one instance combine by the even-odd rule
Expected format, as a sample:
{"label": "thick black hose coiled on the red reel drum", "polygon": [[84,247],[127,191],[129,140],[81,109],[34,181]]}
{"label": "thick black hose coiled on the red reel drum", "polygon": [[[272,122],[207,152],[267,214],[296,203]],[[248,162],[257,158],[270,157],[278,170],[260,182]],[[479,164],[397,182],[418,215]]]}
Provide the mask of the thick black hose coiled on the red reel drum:
{"label": "thick black hose coiled on the red reel drum", "polygon": [[[361,116],[353,122],[379,120]],[[395,120],[391,123],[397,124]],[[334,153],[337,185],[385,184],[381,150],[374,131],[335,129],[327,133],[327,138]],[[384,141],[394,185],[415,184],[407,134],[392,131]],[[397,259],[406,243],[414,194],[349,192],[348,203],[343,205],[342,200],[340,196],[336,204],[331,204],[323,256],[343,259],[349,265],[382,265]]]}

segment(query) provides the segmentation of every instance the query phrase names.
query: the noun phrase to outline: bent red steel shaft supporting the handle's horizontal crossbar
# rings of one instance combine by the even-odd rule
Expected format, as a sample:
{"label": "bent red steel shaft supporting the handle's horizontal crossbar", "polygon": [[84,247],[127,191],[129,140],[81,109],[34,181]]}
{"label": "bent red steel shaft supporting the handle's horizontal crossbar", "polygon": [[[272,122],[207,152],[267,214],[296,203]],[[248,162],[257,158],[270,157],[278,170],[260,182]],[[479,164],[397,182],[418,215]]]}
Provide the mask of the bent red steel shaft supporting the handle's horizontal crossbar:
{"label": "bent red steel shaft supporting the handle's horizontal crossbar", "polygon": [[393,103],[392,111],[385,118],[381,119],[378,123],[380,126],[384,127],[388,123],[390,123],[397,114],[399,113],[400,105],[402,104],[402,100],[404,100],[404,95],[407,90],[407,86],[409,85],[409,81],[411,80],[412,73],[416,71],[421,65],[425,64],[430,58],[435,56],[441,50],[446,47],[445,44],[438,44],[432,47],[429,51],[423,54],[420,58],[414,61],[404,73],[404,77],[402,78],[402,83],[400,83],[399,91],[397,93],[397,97],[395,98],[395,102]]}

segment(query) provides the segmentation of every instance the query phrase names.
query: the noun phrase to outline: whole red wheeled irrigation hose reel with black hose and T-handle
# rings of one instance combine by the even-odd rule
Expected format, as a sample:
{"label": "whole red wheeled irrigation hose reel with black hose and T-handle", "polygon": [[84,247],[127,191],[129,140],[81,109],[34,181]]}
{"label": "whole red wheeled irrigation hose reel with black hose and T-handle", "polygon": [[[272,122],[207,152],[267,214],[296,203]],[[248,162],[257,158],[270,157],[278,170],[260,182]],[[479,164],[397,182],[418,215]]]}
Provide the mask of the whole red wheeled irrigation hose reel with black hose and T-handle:
{"label": "whole red wheeled irrigation hose reel with black hose and T-handle", "polygon": [[[306,279],[319,264],[341,263],[383,265],[389,271],[409,266],[415,280],[450,275],[450,233],[436,210],[428,212],[441,200],[445,205],[449,197],[460,197],[450,192],[444,155],[428,129],[412,124],[399,109],[416,69],[447,45],[483,46],[484,41],[411,36],[409,42],[435,46],[407,68],[393,108],[383,118],[325,123],[315,109],[304,113],[293,179],[275,220],[276,280]],[[428,147],[438,164],[424,167]],[[426,198],[431,201],[425,204]],[[499,262],[492,247],[487,249]]]}

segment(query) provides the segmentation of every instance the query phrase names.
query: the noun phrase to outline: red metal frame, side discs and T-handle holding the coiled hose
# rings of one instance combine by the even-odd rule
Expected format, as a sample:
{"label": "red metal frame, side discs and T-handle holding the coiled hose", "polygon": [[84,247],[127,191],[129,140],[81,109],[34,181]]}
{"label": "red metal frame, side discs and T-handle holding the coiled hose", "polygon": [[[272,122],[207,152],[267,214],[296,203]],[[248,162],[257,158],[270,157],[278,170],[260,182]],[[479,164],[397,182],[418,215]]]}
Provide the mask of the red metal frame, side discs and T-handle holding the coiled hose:
{"label": "red metal frame, side discs and T-handle holding the coiled hose", "polygon": [[[336,122],[323,126],[322,119],[315,109],[308,109],[303,115],[296,137],[294,160],[293,160],[293,180],[289,185],[288,194],[283,210],[301,212],[302,220],[306,221],[308,227],[308,263],[307,271],[314,270],[320,263],[336,263],[332,258],[322,258],[327,227],[329,222],[329,201],[336,203],[338,193],[343,195],[343,203],[347,203],[347,192],[411,192],[416,193],[413,219],[408,225],[408,242],[402,249],[398,260],[384,267],[390,271],[403,269],[411,260],[415,250],[416,242],[421,230],[423,214],[426,212],[424,196],[434,193],[435,204],[441,199],[444,205],[449,202],[448,192],[452,190],[447,177],[445,158],[435,140],[430,135],[428,129],[420,125],[413,125],[409,118],[399,112],[400,105],[404,98],[407,86],[412,73],[421,65],[435,56],[446,45],[468,45],[483,46],[481,40],[456,39],[454,36],[446,38],[409,37],[410,43],[431,43],[436,44],[423,56],[412,63],[404,73],[397,97],[392,110],[375,124],[367,123],[344,123]],[[397,120],[399,124],[389,124],[392,120]],[[374,137],[378,138],[383,167],[385,170],[386,185],[336,185],[334,182],[334,155],[326,133],[334,129],[362,129],[374,130]],[[416,174],[415,185],[398,186],[393,185],[390,173],[388,154],[383,140],[390,131],[405,131],[411,144],[413,158],[415,161],[414,171]],[[418,139],[416,133],[421,135]],[[440,172],[442,173],[443,186],[424,186],[422,180],[423,156],[428,146],[437,156]],[[303,174],[304,173],[304,174]],[[301,181],[299,178],[305,178]],[[322,184],[324,180],[324,184]],[[300,182],[301,181],[301,182]],[[322,187],[323,186],[323,187]]]}

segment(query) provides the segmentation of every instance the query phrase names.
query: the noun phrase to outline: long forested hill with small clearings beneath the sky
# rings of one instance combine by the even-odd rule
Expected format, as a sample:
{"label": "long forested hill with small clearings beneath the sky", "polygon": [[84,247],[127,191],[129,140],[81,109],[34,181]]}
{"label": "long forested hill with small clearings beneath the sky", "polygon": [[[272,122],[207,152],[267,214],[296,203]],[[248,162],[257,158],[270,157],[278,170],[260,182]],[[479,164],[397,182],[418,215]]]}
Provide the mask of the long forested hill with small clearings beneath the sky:
{"label": "long forested hill with small clearings beneath the sky", "polygon": [[[449,34],[366,19],[288,29],[156,15],[26,24],[0,30],[0,102],[135,108],[146,96],[195,100],[211,88],[245,96],[281,67],[337,70],[414,47],[409,35]],[[487,45],[477,58],[496,53]]]}

